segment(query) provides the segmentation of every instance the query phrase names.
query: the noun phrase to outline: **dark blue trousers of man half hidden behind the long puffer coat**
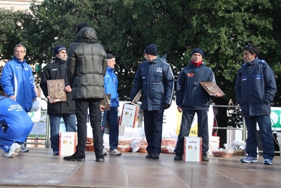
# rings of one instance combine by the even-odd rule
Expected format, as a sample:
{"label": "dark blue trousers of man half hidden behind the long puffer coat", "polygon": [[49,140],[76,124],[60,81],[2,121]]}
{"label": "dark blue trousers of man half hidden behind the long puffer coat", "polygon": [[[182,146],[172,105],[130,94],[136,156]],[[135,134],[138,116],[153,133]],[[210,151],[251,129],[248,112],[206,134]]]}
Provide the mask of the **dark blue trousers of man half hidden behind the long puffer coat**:
{"label": "dark blue trousers of man half hidden behind the long puffer coat", "polygon": [[103,112],[103,133],[105,132],[105,123],[108,123],[110,127],[110,149],[117,149],[119,127],[118,127],[118,107],[110,107],[110,111]]}

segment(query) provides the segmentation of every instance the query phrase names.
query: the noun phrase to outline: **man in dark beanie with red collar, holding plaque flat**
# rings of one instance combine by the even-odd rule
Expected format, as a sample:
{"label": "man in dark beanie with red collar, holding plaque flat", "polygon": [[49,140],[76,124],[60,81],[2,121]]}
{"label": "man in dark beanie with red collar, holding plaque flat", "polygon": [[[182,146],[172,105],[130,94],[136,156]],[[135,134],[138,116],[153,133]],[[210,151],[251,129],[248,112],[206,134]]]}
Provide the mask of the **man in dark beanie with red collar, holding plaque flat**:
{"label": "man in dark beanie with red collar, holding plaque flat", "polygon": [[[183,160],[183,141],[188,137],[190,127],[197,113],[198,137],[202,137],[202,161],[209,161],[208,110],[211,96],[202,87],[200,82],[216,82],[214,73],[203,62],[202,49],[194,49],[189,65],[181,70],[176,86],[176,105],[178,112],[183,113],[181,118],[180,134],[176,143],[174,161]],[[216,97],[221,97],[216,94]]]}

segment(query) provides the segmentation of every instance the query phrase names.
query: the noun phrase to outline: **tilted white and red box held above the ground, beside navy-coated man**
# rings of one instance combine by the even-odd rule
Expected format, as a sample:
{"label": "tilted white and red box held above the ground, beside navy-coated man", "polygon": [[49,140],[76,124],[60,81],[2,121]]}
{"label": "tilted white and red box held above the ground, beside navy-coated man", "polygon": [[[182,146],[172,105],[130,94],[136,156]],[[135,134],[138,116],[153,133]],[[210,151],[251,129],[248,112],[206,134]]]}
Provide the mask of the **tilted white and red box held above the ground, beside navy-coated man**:
{"label": "tilted white and red box held above the ground, beside navy-coated man", "polygon": [[125,127],[142,127],[143,125],[143,110],[141,104],[124,104],[120,118],[120,125]]}

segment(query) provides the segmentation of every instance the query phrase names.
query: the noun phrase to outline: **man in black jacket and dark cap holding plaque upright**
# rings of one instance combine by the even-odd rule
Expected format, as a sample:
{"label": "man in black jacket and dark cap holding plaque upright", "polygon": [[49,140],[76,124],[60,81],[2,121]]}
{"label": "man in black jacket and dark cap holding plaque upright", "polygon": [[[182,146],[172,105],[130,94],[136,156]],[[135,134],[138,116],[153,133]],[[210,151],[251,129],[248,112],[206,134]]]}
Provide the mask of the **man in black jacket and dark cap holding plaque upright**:
{"label": "man in black jacket and dark cap holding plaque upright", "polygon": [[[67,132],[76,132],[77,129],[75,103],[71,99],[72,89],[66,74],[67,51],[65,46],[58,45],[53,48],[53,53],[55,55],[55,61],[53,61],[53,63],[48,63],[48,65],[44,67],[44,71],[41,75],[40,87],[48,99],[47,113],[50,119],[51,148],[53,149],[53,155],[58,155],[60,119],[63,118]],[[48,94],[47,80],[59,79],[65,80],[65,88],[63,89],[66,94],[67,101],[52,99]]]}

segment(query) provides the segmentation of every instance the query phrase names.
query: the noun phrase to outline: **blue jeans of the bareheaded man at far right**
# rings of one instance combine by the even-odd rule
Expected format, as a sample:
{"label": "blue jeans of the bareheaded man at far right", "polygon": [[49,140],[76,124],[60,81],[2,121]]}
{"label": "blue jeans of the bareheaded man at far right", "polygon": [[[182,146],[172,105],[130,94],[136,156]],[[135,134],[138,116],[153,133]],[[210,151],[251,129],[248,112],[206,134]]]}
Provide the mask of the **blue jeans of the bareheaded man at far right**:
{"label": "blue jeans of the bareheaded man at far right", "polygon": [[258,123],[261,133],[261,144],[263,146],[263,158],[273,160],[275,151],[270,123],[270,115],[256,115],[244,118],[247,127],[246,152],[248,156],[256,157],[258,155],[258,153],[256,152],[256,149],[258,147],[256,138],[256,123]]}

